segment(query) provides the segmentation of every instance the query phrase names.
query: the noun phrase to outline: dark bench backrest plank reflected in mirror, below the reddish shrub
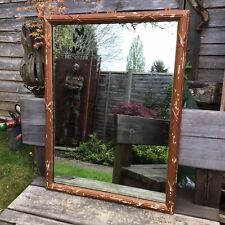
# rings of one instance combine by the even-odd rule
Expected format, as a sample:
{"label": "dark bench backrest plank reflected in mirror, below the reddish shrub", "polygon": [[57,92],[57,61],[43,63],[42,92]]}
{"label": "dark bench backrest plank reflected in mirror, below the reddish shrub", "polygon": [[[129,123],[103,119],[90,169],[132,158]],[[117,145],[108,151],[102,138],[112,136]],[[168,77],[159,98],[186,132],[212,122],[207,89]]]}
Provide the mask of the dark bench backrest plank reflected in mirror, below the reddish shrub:
{"label": "dark bench backrest plank reflected in mirror, below the reddish shrub", "polygon": [[168,145],[168,121],[117,115],[116,127],[117,143]]}

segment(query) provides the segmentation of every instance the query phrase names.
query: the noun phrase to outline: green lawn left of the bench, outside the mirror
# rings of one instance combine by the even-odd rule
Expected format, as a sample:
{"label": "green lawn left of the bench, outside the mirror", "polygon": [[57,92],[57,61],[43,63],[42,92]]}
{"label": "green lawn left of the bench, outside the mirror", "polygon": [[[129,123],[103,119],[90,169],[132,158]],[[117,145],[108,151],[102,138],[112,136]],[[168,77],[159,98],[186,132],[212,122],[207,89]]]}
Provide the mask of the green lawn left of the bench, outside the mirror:
{"label": "green lawn left of the bench, outside the mirror", "polygon": [[34,179],[31,147],[13,151],[8,147],[7,132],[0,132],[0,212]]}

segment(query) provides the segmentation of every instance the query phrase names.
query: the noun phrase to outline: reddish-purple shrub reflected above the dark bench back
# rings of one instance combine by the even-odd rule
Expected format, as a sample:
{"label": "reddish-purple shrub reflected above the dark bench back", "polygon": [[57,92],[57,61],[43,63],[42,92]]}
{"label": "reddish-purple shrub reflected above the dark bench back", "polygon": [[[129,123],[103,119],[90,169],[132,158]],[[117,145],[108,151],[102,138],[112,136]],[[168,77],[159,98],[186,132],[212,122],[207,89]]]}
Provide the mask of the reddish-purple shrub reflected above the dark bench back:
{"label": "reddish-purple shrub reflected above the dark bench back", "polygon": [[142,103],[121,102],[115,108],[113,108],[112,112],[113,114],[158,118],[158,114],[156,111],[145,107]]}

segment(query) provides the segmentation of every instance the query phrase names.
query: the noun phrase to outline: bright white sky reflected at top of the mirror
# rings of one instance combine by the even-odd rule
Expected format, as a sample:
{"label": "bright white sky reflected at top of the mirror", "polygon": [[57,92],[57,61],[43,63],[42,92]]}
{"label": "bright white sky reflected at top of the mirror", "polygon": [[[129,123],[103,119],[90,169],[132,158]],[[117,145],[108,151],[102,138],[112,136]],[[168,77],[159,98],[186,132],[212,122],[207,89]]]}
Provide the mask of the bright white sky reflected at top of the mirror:
{"label": "bright white sky reflected at top of the mirror", "polygon": [[[110,26],[110,32],[114,33],[110,42],[112,46],[104,44],[103,28]],[[97,41],[102,42],[98,46],[98,54],[101,56],[101,70],[126,71],[127,56],[131,43],[136,36],[140,36],[145,57],[145,71],[151,69],[155,60],[162,60],[169,72],[174,70],[177,22],[159,22],[138,24],[135,29],[130,24],[99,25],[97,29]],[[107,38],[106,38],[107,39]]]}

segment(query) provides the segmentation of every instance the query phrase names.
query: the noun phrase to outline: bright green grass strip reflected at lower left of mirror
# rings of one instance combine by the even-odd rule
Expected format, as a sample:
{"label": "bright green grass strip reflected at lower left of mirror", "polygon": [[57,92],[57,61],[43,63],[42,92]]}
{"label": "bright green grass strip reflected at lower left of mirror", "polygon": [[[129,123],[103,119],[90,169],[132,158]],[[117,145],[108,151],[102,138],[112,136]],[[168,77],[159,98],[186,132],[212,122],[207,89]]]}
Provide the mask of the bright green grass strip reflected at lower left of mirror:
{"label": "bright green grass strip reflected at lower left of mirror", "polygon": [[112,174],[109,172],[101,172],[94,169],[78,167],[62,162],[55,162],[54,173],[56,176],[82,177],[112,183]]}

